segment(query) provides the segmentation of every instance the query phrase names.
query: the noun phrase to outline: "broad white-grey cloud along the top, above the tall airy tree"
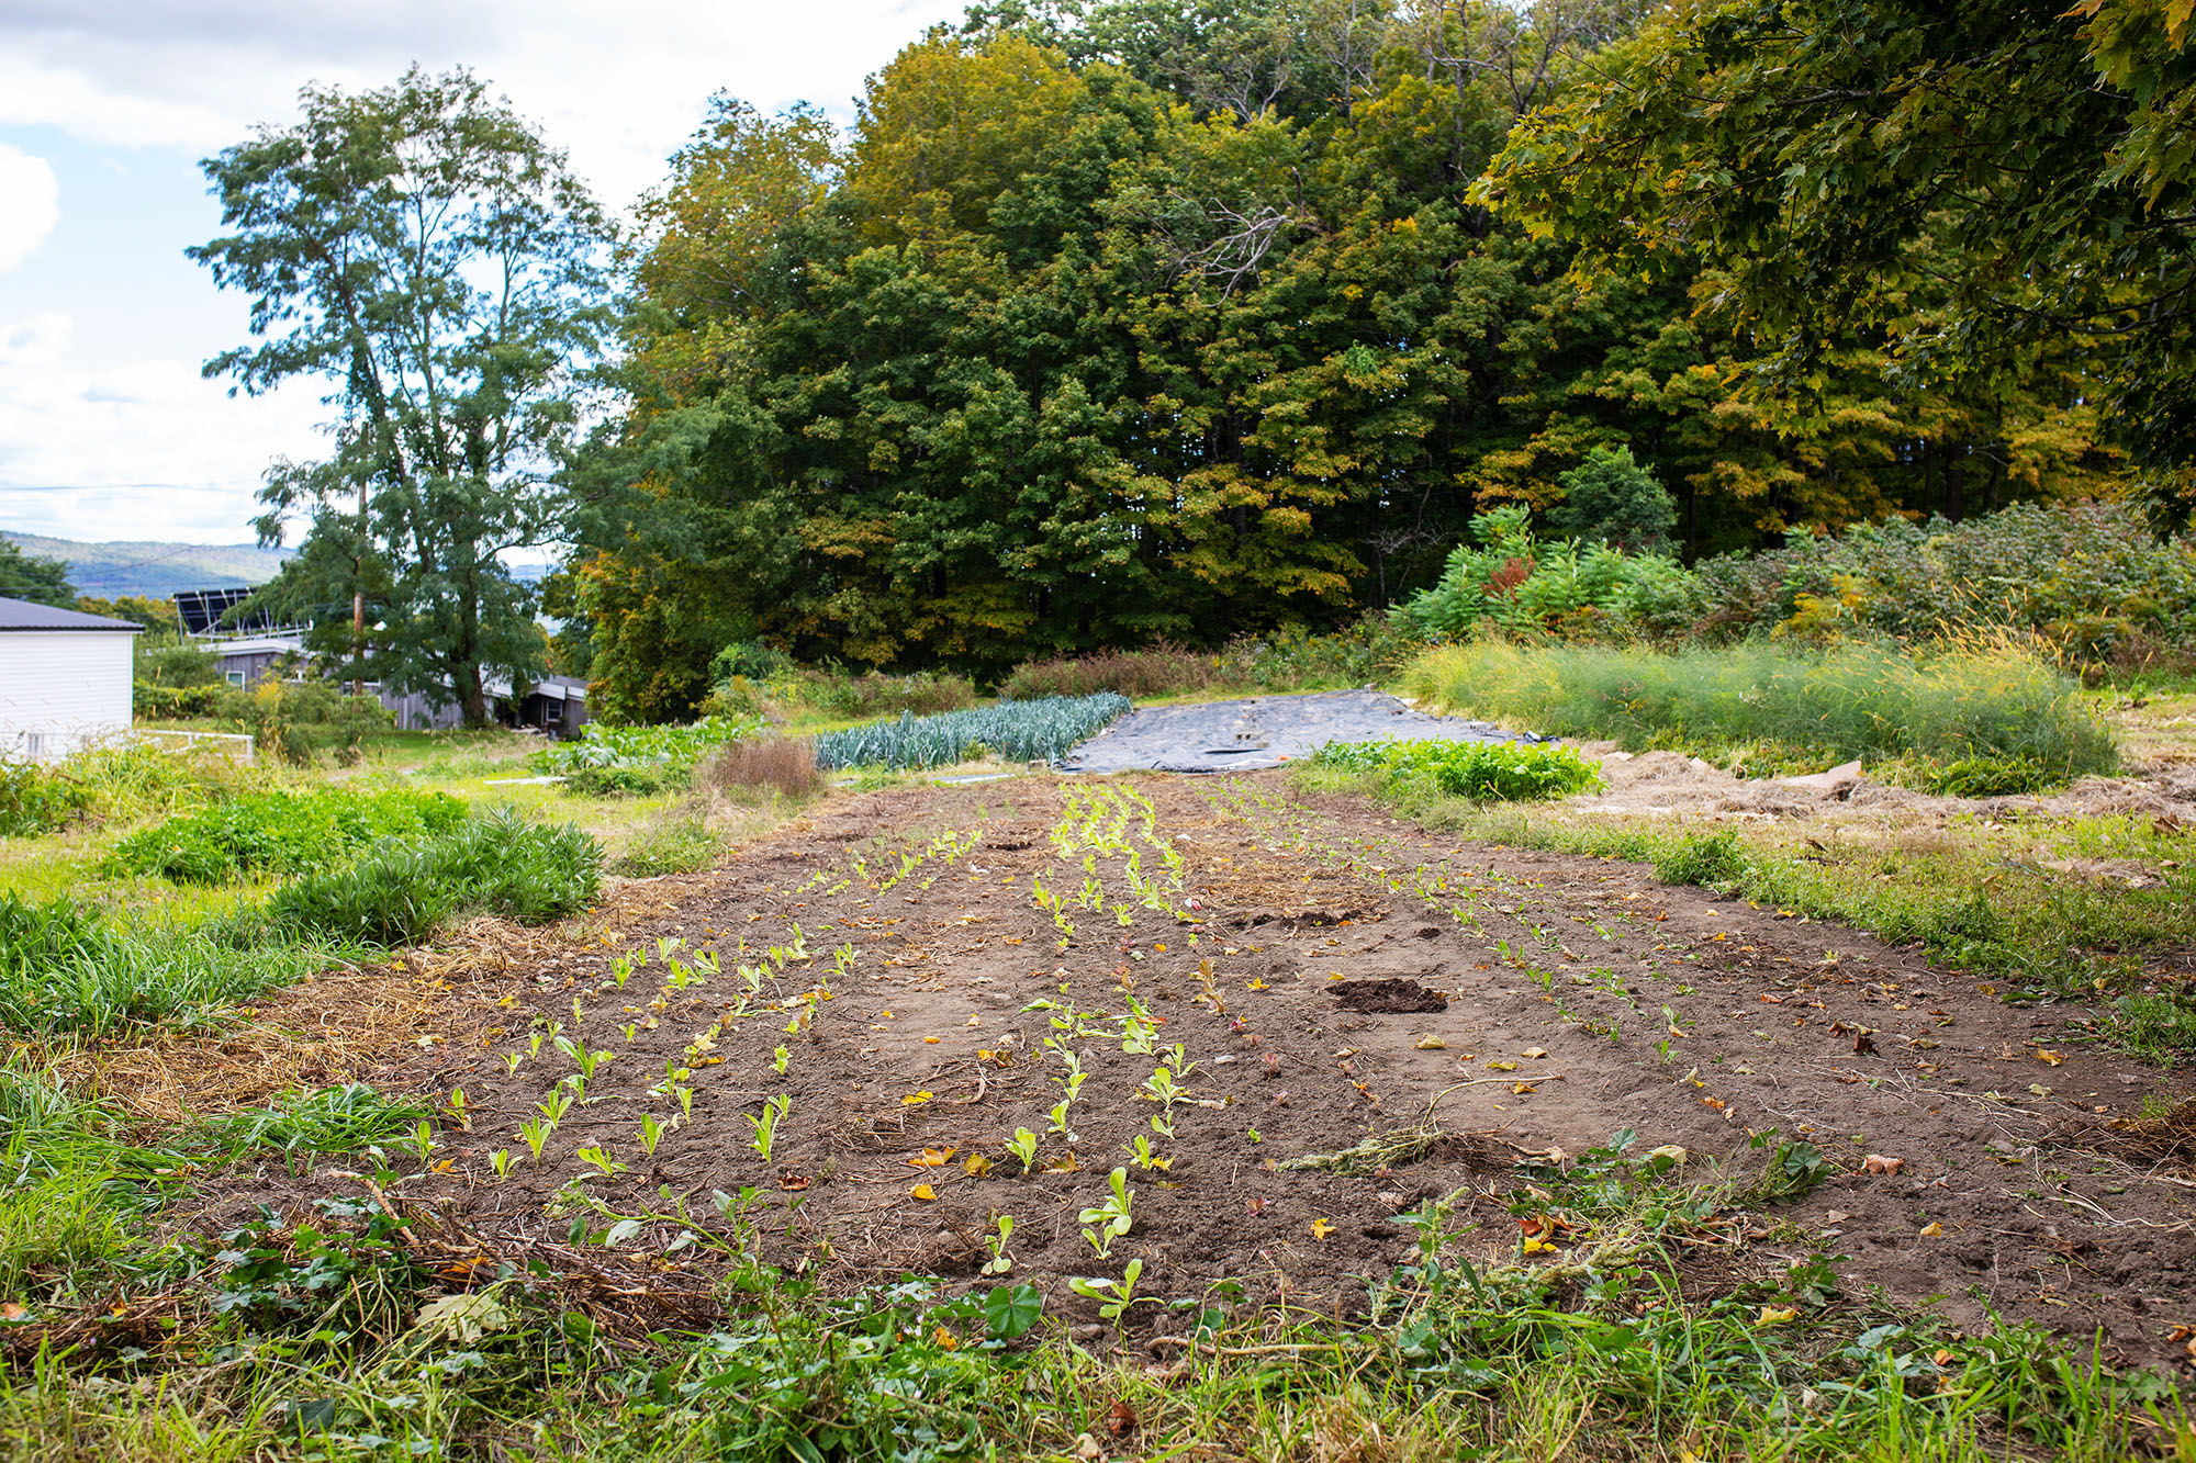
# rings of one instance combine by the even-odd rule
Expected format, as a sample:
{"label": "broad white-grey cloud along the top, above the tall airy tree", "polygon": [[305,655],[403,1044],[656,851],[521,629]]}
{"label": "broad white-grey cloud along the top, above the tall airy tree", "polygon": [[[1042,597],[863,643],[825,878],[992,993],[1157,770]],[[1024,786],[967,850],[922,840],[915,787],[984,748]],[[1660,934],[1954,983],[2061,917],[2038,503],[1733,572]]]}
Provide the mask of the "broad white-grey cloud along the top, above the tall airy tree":
{"label": "broad white-grey cloud along the top, above the tall airy tree", "polygon": [[283,123],[305,81],[382,86],[466,64],[600,196],[657,182],[712,92],[839,116],[867,72],[966,0],[15,0],[0,9],[0,123],[213,149]]}

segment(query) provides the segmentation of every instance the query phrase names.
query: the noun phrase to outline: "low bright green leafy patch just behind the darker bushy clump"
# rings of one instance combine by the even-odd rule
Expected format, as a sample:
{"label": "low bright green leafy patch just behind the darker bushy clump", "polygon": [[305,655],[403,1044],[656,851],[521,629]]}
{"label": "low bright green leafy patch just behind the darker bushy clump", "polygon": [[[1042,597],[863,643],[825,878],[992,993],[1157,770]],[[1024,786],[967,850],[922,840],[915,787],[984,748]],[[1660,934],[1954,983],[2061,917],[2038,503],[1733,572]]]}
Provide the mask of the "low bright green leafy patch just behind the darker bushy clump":
{"label": "low bright green leafy patch just behind the darker bushy clump", "polygon": [[178,883],[228,883],[343,861],[376,839],[448,833],[466,804],[448,793],[246,793],[132,833],[108,870]]}

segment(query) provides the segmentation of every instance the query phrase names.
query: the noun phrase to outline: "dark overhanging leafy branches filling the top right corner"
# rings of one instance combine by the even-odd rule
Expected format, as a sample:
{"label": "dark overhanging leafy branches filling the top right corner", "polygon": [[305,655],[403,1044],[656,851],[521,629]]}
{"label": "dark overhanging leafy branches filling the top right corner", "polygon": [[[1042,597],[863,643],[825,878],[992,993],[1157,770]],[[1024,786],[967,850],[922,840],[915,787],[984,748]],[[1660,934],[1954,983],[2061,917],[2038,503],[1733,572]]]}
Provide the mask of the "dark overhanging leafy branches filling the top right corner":
{"label": "dark overhanging leafy branches filling the top right corner", "polygon": [[1763,389],[1882,349],[1996,398],[2082,356],[2117,442],[2196,464],[2185,0],[1687,0],[1524,119],[1482,196],[1601,281],[1706,268]]}

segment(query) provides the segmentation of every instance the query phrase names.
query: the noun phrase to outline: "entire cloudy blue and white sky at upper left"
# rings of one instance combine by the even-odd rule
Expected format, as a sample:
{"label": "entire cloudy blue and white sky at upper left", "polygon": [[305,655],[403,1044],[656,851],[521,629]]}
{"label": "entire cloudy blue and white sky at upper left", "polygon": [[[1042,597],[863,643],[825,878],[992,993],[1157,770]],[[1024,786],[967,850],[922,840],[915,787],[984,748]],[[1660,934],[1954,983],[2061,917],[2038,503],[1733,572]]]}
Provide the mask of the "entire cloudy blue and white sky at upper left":
{"label": "entire cloudy blue and white sky at upper left", "polygon": [[184,259],[220,233],[198,160],[296,119],[307,81],[470,66],[628,209],[714,92],[848,123],[863,79],[966,0],[0,0],[0,529],[250,540],[323,389],[200,365],[246,303]]}

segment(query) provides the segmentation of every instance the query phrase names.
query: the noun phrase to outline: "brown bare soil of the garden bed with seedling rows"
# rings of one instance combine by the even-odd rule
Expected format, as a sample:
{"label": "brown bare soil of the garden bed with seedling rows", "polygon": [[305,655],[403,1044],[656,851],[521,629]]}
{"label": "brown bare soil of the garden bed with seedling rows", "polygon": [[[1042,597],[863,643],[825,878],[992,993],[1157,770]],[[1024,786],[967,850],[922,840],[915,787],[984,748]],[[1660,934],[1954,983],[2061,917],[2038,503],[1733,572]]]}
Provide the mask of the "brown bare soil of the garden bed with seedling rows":
{"label": "brown bare soil of the garden bed with seedling rows", "polygon": [[[1135,909],[1129,925],[1072,909],[1067,949],[1032,901],[1032,874],[1069,892],[1083,876],[1050,841],[1054,778],[848,797],[729,868],[624,885],[593,945],[529,947],[479,978],[479,995],[446,995],[463,1006],[448,1030],[492,1021],[477,1039],[406,1048],[406,1070],[384,1081],[461,1085],[470,1131],[446,1131],[393,1202],[446,1208],[494,1248],[562,1239],[589,1213],[573,1184],[617,1215],[665,1215],[683,1197],[694,1228],[716,1230],[707,1195],[751,1188],[764,1254],[832,1287],[975,1278],[990,1221],[1012,1215],[1012,1278],[1069,1311],[1083,1303],[1058,1276],[1120,1274],[1131,1257],[1146,1294],[1234,1281],[1258,1303],[1351,1309],[1364,1276],[1403,1259],[1394,1215],[1425,1197],[1463,1188],[1480,1226],[1469,1243],[1515,1257],[1520,1155],[1575,1155],[1634,1129],[1640,1151],[1678,1144],[1689,1177],[1722,1164],[1744,1191],[1766,1162],[1748,1138],[1774,1129],[1816,1144],[1831,1175],[1794,1204],[1735,1195],[1730,1221],[1691,1246],[1702,1274],[1820,1252],[1845,1257],[1856,1296],[1937,1298],[1963,1327],[1998,1314],[2102,1329],[2113,1360],[2185,1360],[2172,1336],[2196,1322],[2189,1147],[2113,1123],[2187,1083],[2069,1043],[2082,1010],[2012,1008],[1990,982],[1913,951],[1669,887],[1638,865],[1460,844],[1359,800],[1300,800],[1278,773],[1133,786],[1186,857],[1197,907],[1186,920]],[[903,852],[946,830],[977,841],[892,879]],[[600,918],[615,929],[593,934]],[[808,958],[764,986],[775,1008],[709,1035],[736,1008],[736,967],[793,945],[795,925]],[[617,953],[659,938],[714,949],[722,971],[668,991],[652,958],[608,984]],[[839,945],[854,949],[850,969],[788,1035]],[[1118,1035],[1129,993],[1164,1019],[1157,1043],[1197,1063],[1170,1142],[1153,1138],[1159,1107],[1140,1096],[1155,1057],[1124,1052]],[[1052,1026],[1034,999],[1116,1032],[1072,1043],[1089,1072],[1074,1142],[1045,1131],[1061,1061],[1041,1046]],[[589,1085],[600,1101],[575,1105],[536,1164],[516,1127],[573,1063],[545,1043],[514,1074],[505,1054],[525,1052],[529,1019],[571,1032],[575,1002],[586,1043],[615,1059]],[[641,1116],[679,1112],[648,1090],[698,1039],[692,1118],[646,1155]],[[773,1096],[791,1107],[764,1162],[751,1118]],[[1452,1140],[1414,1162],[1291,1166],[1430,1105]],[[1006,1147],[1017,1127],[1043,1133],[1028,1175]],[[1098,1259],[1078,1210],[1102,1199],[1140,1133],[1170,1166],[1129,1166],[1133,1230]],[[503,1182],[496,1149],[514,1158]],[[626,1169],[589,1177],[580,1149]],[[209,1175],[200,1221],[338,1188],[356,1182],[334,1169]],[[632,1243],[665,1250],[679,1228],[652,1219]],[[707,1267],[696,1254],[659,1265]]]}

